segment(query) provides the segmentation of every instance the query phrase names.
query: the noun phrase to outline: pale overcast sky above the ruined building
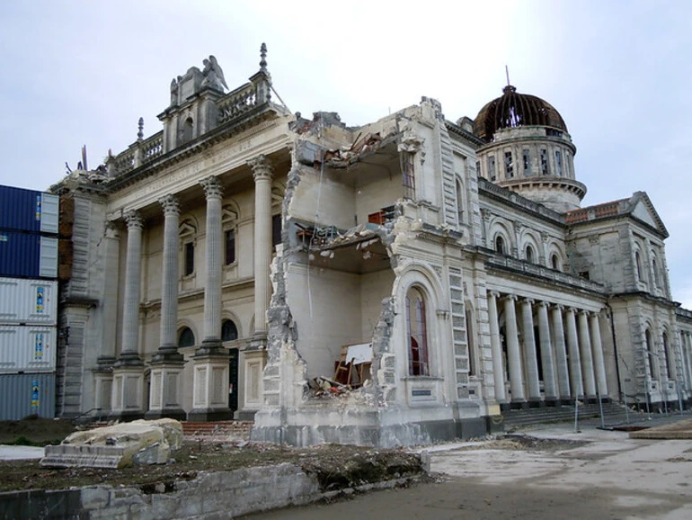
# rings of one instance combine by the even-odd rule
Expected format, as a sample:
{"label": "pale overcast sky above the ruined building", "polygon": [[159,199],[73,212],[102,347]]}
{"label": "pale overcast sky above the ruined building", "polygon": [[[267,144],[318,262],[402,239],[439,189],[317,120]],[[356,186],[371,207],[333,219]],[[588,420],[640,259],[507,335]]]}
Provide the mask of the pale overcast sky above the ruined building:
{"label": "pale overcast sky above the ruined building", "polygon": [[214,54],[226,83],[259,68],[293,112],[350,126],[419,103],[448,120],[519,92],[563,115],[583,205],[649,194],[670,231],[673,299],[692,309],[692,2],[55,2],[0,14],[0,184],[45,190],[161,130],[173,76]]}

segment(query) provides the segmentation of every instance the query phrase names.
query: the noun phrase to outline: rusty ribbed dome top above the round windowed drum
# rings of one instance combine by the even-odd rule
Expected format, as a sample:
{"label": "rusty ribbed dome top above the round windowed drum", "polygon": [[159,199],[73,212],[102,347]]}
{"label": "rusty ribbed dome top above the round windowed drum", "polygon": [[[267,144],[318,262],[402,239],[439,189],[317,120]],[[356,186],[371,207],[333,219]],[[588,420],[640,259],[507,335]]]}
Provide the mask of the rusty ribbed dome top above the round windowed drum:
{"label": "rusty ribbed dome top above the round windowed drum", "polygon": [[547,126],[567,131],[563,117],[553,105],[535,95],[517,94],[507,85],[501,97],[487,103],[475,117],[474,133],[486,143],[492,141],[495,131],[520,126]]}

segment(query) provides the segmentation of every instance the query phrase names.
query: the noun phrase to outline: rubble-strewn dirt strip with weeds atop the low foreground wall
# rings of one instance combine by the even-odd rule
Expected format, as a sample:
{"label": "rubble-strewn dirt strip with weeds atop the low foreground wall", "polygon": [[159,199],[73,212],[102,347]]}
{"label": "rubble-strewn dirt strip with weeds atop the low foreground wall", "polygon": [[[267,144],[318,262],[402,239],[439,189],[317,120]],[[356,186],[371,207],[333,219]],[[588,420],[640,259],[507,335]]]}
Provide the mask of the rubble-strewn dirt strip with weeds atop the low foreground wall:
{"label": "rubble-strewn dirt strip with weeds atop the low foreground wall", "polygon": [[173,489],[175,480],[192,480],[200,471],[233,471],[291,462],[315,474],[324,490],[421,473],[419,457],[403,450],[374,450],[361,446],[324,444],[283,450],[274,444],[186,441],[173,452],[173,461],[122,470],[42,468],[39,461],[0,461],[0,492],[14,489],[67,489],[93,486],[134,486],[146,493],[157,484]]}

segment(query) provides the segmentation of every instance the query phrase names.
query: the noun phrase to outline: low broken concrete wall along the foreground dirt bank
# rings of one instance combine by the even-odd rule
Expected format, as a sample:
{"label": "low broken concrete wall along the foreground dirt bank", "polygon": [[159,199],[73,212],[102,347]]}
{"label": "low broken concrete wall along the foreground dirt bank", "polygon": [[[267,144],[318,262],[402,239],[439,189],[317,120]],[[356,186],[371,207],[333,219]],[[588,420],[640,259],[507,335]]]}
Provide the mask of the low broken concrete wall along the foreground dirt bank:
{"label": "low broken concrete wall along the foreground dirt bank", "polygon": [[307,504],[341,493],[391,488],[415,478],[386,480],[355,489],[324,492],[314,475],[306,474],[294,464],[285,463],[200,473],[194,480],[161,483],[158,489],[151,489],[152,493],[111,486],[0,493],[0,519],[211,520]]}

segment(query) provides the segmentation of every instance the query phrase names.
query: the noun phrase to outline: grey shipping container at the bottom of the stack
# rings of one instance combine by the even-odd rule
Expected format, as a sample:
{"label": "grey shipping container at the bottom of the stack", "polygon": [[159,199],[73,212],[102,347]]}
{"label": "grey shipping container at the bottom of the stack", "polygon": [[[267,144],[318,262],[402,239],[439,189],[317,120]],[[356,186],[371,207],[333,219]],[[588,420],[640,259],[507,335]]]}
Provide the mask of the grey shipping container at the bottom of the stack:
{"label": "grey shipping container at the bottom of the stack", "polygon": [[55,417],[55,373],[0,374],[0,421]]}

